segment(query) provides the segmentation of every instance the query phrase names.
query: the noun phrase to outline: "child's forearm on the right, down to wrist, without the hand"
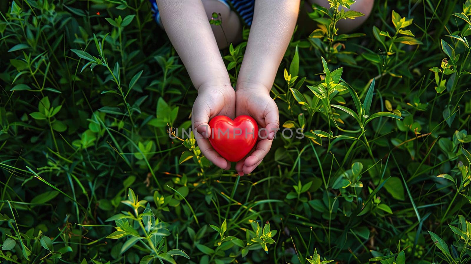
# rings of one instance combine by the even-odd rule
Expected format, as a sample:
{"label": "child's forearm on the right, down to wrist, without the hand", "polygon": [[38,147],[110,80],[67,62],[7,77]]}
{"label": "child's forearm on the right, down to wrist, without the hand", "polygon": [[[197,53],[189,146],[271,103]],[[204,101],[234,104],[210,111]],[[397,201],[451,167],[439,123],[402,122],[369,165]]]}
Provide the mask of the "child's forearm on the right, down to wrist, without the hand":
{"label": "child's forearm on the right, down to wrist, without the hand", "polygon": [[237,87],[252,83],[271,89],[296,25],[299,5],[299,0],[255,1]]}

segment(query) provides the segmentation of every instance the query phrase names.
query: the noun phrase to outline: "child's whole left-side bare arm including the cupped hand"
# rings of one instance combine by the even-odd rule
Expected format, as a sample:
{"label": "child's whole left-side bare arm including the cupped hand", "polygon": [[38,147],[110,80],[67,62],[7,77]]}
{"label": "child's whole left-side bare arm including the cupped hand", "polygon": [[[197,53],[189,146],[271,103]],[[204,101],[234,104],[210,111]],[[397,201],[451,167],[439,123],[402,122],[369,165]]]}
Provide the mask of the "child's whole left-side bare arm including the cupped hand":
{"label": "child's whole left-side bare arm including the cupped hand", "polygon": [[235,92],[222,61],[201,0],[157,0],[162,24],[198,90],[191,123],[201,152],[219,168],[230,162],[209,140],[209,120],[216,115],[234,118]]}

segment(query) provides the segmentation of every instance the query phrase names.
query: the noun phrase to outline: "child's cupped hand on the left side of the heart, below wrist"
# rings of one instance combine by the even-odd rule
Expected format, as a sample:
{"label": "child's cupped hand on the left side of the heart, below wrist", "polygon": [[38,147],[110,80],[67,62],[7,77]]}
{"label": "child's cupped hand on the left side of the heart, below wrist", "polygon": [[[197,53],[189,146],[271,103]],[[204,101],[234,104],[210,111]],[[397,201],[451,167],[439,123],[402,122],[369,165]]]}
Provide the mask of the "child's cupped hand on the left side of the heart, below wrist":
{"label": "child's cupped hand on the left side of the heart, below wrist", "polygon": [[222,169],[229,169],[230,162],[221,157],[212,146],[208,137],[211,136],[209,120],[217,115],[226,115],[234,118],[235,91],[230,86],[208,86],[198,89],[198,96],[193,104],[191,121],[196,142],[201,153],[214,165]]}

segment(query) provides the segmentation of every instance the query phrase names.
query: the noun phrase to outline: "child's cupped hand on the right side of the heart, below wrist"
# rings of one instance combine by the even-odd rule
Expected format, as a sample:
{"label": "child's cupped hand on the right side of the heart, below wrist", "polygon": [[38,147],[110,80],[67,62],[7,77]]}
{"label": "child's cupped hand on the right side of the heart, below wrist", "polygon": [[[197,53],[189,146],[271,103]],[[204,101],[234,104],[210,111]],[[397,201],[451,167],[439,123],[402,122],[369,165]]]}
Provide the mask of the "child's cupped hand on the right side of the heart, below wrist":
{"label": "child's cupped hand on the right side of the heart, below wrist", "polygon": [[259,84],[244,83],[243,86],[244,88],[238,88],[235,92],[235,114],[250,115],[257,121],[260,140],[255,151],[235,165],[240,176],[251,173],[260,164],[270,150],[275,133],[280,127],[278,107],[270,97],[269,90]]}

